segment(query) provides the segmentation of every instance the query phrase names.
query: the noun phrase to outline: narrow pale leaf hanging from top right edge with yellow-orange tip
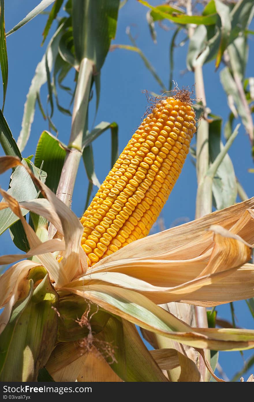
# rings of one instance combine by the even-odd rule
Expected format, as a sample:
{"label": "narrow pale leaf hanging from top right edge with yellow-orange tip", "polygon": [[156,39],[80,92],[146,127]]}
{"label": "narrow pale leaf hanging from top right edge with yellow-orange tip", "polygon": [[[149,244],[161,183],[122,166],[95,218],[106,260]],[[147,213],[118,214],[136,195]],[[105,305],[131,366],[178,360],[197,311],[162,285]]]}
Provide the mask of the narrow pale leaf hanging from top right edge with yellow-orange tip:
{"label": "narrow pale leaf hanging from top right edge with yellow-orange tip", "polygon": [[220,0],[215,0],[215,6],[217,13],[221,18],[221,43],[219,45],[219,51],[217,53],[215,67],[218,68],[221,62],[221,58],[227,45],[229,43],[229,36],[231,32],[230,21],[230,8],[226,4],[223,4]]}

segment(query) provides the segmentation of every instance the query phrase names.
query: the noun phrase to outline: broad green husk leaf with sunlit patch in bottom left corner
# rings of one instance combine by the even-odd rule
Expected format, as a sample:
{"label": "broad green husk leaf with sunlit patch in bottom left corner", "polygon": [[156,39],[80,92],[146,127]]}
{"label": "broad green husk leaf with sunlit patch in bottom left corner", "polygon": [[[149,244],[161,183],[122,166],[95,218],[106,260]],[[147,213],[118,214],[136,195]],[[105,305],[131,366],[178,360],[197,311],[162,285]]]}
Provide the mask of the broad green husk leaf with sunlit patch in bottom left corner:
{"label": "broad green husk leaf with sunlit patch in bottom left corner", "polygon": [[[45,269],[37,267],[35,271],[30,272],[28,279],[39,278],[41,272],[42,281],[15,321],[1,381],[36,381],[39,369],[45,365],[55,345],[57,314],[52,306],[57,306],[58,296]],[[3,337],[6,330],[8,325],[2,332]]]}

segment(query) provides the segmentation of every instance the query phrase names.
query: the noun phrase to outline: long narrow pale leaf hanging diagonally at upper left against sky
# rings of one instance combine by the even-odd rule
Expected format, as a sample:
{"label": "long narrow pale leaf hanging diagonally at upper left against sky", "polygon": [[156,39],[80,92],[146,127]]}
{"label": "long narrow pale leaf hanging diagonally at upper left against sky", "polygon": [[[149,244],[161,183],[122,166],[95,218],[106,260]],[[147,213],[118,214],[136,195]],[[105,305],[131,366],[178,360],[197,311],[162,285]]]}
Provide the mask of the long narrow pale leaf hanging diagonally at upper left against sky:
{"label": "long narrow pale leaf hanging diagonally at upper left against sky", "polygon": [[22,119],[22,129],[20,131],[20,135],[18,137],[17,144],[22,152],[25,148],[27,141],[29,139],[31,125],[33,123],[34,115],[35,115],[35,103],[37,100],[37,94],[40,92],[41,86],[47,82],[47,71],[46,71],[46,55],[48,62],[48,69],[51,72],[53,65],[55,63],[55,58],[58,53],[58,44],[61,37],[61,31],[63,28],[63,24],[57,29],[53,37],[51,38],[49,45],[41,62],[36,67],[35,76],[31,82],[31,86],[29,88],[29,92],[27,94],[27,100],[25,103],[25,109]]}

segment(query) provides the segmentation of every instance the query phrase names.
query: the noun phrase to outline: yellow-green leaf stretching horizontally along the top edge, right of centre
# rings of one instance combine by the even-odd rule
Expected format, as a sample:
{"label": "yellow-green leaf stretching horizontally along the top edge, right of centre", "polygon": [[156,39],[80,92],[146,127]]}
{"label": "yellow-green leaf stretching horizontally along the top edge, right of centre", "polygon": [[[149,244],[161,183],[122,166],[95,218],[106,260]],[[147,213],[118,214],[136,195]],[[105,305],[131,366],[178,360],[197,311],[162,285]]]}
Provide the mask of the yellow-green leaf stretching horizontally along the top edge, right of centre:
{"label": "yellow-green leaf stretching horizontally along the top edge, right of centre", "polygon": [[179,9],[174,9],[171,6],[163,5],[153,7],[147,1],[138,0],[143,6],[146,6],[152,10],[152,17],[154,21],[160,21],[164,18],[173,21],[177,24],[197,24],[197,25],[213,25],[217,21],[217,14],[211,15],[186,15]]}

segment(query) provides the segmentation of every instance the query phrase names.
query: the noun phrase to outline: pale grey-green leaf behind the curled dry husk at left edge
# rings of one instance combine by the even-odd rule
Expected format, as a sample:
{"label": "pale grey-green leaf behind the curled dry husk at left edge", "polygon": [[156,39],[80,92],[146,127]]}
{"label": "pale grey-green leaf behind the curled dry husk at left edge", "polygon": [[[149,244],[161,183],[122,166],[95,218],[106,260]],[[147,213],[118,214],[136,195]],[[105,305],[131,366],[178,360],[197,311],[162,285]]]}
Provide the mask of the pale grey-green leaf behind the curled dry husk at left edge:
{"label": "pale grey-green leaf behind the curled dry husk at left edge", "polygon": [[[30,161],[29,161],[30,162]],[[23,164],[29,164],[29,167],[33,171],[33,174],[39,178],[43,183],[46,179],[46,173],[38,169],[31,162],[23,159]],[[10,188],[8,193],[17,201],[28,201],[38,197],[39,193],[28,174],[27,170],[22,166],[17,166],[11,175]],[[21,208],[23,216],[28,213],[27,209]],[[0,211],[0,234],[8,229],[14,222],[18,220],[18,217],[10,210],[10,208],[2,209]]]}

